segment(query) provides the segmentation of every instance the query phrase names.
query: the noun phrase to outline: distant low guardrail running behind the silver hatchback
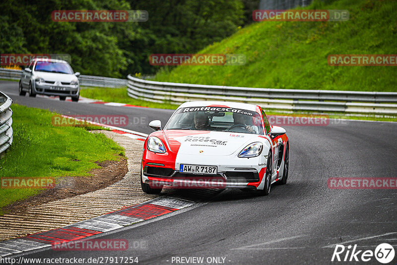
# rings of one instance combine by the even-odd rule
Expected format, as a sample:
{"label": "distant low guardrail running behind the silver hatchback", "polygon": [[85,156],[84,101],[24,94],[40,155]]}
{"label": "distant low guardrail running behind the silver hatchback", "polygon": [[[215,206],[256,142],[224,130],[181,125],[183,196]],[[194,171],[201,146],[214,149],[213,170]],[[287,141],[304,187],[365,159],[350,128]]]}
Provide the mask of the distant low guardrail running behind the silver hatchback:
{"label": "distant low guardrail running behind the silver hatchback", "polygon": [[[0,68],[0,78],[19,80],[22,70]],[[103,76],[80,75],[78,77],[81,86],[99,86],[99,87],[125,87],[126,79],[110,78]]]}

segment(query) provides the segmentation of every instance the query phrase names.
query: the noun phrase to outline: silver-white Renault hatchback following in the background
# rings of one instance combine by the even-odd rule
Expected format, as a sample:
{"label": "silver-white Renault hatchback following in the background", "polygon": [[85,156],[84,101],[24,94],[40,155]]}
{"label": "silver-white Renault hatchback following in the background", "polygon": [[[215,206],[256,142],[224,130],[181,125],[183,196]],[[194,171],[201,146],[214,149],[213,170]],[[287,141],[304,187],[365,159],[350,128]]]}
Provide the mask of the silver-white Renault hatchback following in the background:
{"label": "silver-white Renault hatchback following in the background", "polygon": [[62,60],[36,58],[30,61],[21,74],[19,95],[29,92],[30,97],[36,94],[59,96],[65,100],[78,101],[80,96],[79,72],[73,72],[71,66]]}

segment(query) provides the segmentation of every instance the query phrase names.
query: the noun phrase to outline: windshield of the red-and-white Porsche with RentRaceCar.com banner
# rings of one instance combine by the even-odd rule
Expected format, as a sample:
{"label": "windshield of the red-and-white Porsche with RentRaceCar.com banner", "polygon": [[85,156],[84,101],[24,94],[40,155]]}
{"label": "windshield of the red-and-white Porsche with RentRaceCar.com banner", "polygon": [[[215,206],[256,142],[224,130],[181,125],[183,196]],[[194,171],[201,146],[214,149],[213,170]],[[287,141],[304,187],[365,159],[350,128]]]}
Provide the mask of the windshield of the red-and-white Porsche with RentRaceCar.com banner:
{"label": "windshield of the red-and-white Porsche with RentRaceCar.com banner", "polygon": [[164,129],[264,134],[257,112],[227,107],[181,108]]}

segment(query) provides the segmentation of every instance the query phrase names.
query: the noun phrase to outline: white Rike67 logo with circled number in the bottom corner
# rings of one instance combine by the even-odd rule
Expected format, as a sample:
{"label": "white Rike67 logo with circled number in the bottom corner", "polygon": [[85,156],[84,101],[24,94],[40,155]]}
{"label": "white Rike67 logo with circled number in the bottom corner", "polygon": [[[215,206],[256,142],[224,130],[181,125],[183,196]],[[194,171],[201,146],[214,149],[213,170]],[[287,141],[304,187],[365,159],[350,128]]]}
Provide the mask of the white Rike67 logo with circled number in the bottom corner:
{"label": "white Rike67 logo with circled number in the bottom corner", "polygon": [[351,245],[345,247],[343,245],[336,245],[332,254],[331,262],[369,262],[373,258],[382,263],[388,264],[393,261],[395,257],[395,250],[392,245],[383,243],[372,250],[357,250],[357,244],[353,249]]}

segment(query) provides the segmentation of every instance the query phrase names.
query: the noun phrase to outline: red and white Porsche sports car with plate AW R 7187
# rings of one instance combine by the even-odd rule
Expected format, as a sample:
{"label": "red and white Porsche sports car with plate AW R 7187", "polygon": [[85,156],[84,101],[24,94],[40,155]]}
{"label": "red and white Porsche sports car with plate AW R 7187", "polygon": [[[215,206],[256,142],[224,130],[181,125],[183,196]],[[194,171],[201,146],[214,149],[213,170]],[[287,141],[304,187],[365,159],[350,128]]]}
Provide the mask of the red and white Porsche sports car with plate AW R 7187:
{"label": "red and white Porsche sports car with plate AW R 7187", "polygon": [[268,195],[288,178],[289,142],[260,106],[235,102],[183,103],[164,129],[144,142],[141,187],[145,193],[173,188],[238,188]]}

